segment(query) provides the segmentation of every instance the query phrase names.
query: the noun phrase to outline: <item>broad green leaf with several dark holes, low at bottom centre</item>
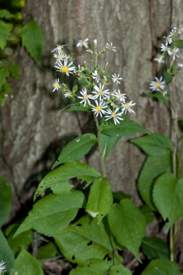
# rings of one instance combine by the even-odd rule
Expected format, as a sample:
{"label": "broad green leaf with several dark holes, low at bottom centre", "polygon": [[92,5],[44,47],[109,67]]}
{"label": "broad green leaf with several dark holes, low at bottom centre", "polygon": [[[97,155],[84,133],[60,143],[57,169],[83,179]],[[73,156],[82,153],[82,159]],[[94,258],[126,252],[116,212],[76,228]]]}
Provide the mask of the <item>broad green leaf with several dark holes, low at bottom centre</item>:
{"label": "broad green leaf with several dark holes, low at bottom centre", "polygon": [[89,259],[103,259],[113,251],[107,219],[98,225],[96,219],[85,215],[54,236],[58,248],[72,263],[89,264]]}

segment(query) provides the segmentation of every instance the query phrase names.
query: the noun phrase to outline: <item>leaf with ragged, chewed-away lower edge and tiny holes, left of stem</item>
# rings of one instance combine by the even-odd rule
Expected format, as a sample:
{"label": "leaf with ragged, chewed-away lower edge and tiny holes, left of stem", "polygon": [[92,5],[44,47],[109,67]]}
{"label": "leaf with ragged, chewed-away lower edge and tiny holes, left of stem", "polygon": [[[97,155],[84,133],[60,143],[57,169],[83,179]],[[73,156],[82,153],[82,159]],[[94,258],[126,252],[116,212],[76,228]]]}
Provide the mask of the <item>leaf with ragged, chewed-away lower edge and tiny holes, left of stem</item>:
{"label": "leaf with ragged, chewed-away lower edge and tiny holes, left of stem", "polygon": [[88,164],[81,162],[67,162],[48,173],[42,179],[34,194],[34,200],[36,197],[39,197],[46,188],[51,188],[55,195],[69,192],[73,186],[68,184],[67,180],[72,177],[77,177],[77,179],[82,179],[82,182],[87,181],[87,184],[91,184],[94,179],[100,177],[100,174]]}

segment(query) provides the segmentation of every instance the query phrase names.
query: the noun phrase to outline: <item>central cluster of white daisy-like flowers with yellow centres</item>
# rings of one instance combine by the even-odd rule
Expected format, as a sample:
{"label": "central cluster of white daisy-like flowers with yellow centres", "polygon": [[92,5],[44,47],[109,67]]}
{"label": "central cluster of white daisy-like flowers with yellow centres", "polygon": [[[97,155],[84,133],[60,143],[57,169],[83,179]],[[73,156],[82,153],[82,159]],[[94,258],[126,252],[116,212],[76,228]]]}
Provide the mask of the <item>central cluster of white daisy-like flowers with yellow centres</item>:
{"label": "central cluster of white daisy-like flowers with yellow centres", "polygon": [[[94,40],[94,50],[91,50],[88,45],[89,39],[80,40],[77,43],[77,47],[85,47],[89,54],[96,54],[96,60],[98,55],[105,54],[107,51],[116,52],[116,47],[113,43],[105,44],[102,51],[97,50],[97,41]],[[76,91],[70,91],[67,85],[59,85],[59,79],[56,79],[56,82],[53,84],[53,91],[58,91],[61,89],[65,93],[65,97],[69,97],[72,99],[78,98],[80,104],[83,104],[84,107],[88,107],[91,111],[94,112],[96,117],[100,115],[102,118],[105,116],[105,120],[113,119],[114,124],[119,124],[120,120],[123,120],[121,117],[123,113],[134,113],[131,109],[133,105],[133,100],[130,102],[126,102],[126,94],[122,94],[120,89],[116,91],[111,91],[107,89],[107,85],[111,84],[108,82],[109,79],[112,80],[116,85],[120,84],[120,74],[113,74],[109,76],[107,71],[108,63],[105,65],[103,72],[99,71],[99,66],[96,63],[94,69],[90,70],[87,68],[87,63],[84,62],[84,66],[78,65],[78,67],[74,66],[72,62],[71,56],[65,54],[63,52],[63,47],[65,45],[56,45],[57,47],[52,50],[52,52],[56,52],[54,57],[56,58],[56,67],[58,72],[66,74],[73,74],[74,77],[78,80],[79,83],[84,85],[84,89],[81,89],[80,95],[76,96]],[[70,61],[68,63],[68,60]],[[93,101],[92,101],[93,100]]]}

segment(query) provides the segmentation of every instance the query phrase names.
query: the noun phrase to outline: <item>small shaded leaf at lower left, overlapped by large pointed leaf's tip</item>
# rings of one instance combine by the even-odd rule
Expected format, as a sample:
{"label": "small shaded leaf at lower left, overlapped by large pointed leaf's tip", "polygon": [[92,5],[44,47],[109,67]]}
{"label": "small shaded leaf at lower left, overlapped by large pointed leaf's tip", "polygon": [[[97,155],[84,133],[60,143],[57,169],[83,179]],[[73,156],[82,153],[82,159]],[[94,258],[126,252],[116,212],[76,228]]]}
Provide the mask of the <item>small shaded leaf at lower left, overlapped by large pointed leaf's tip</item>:
{"label": "small shaded leaf at lower left, overlapped by large pointed leaf's tip", "polygon": [[7,237],[8,245],[12,249],[14,256],[20,252],[21,248],[28,249],[28,246],[33,241],[33,231],[28,230],[19,234],[16,238],[13,239],[14,233],[19,228],[20,223],[13,223],[8,228],[6,228],[5,234]]}

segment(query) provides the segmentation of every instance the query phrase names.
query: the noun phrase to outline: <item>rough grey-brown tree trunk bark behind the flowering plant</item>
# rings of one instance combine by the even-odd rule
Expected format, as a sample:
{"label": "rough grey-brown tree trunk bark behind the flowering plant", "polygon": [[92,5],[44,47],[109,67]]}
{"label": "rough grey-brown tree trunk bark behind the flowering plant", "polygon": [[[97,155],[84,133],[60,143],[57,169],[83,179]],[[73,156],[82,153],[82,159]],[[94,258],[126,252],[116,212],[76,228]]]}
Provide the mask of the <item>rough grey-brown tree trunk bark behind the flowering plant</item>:
{"label": "rough grey-brown tree trunk bark behind the flowering plant", "polygon": [[[72,85],[72,78],[62,78],[54,70],[51,50],[56,43],[67,44],[69,52],[78,54],[75,64],[89,61],[83,48],[76,48],[80,39],[89,37],[89,43],[98,40],[99,47],[113,42],[116,53],[101,56],[104,65],[109,62],[112,74],[120,74],[120,89],[129,100],[136,102],[136,114],[128,115],[151,133],[169,135],[169,115],[160,102],[149,100],[143,94],[157,72],[153,58],[160,47],[159,39],[169,32],[177,21],[177,0],[27,0],[23,20],[32,15],[41,26],[46,47],[36,65],[23,47],[17,52],[21,67],[20,79],[14,81],[14,98],[1,109],[1,176],[14,186],[14,212],[22,202],[32,196],[34,181],[38,182],[56,160],[67,140],[80,135],[81,128],[92,125],[85,113],[58,113],[68,101],[58,92],[52,94],[52,83],[59,76],[61,82]],[[183,10],[183,7],[182,7]],[[182,20],[182,19],[181,19]],[[180,24],[183,22],[180,21]],[[69,82],[68,82],[69,81]],[[116,85],[113,86],[116,88]],[[177,87],[182,87],[180,78]],[[179,116],[182,117],[182,91],[178,90]],[[80,124],[78,119],[81,120]],[[123,138],[105,163],[113,190],[123,190],[140,203],[136,192],[136,179],[144,161],[138,148]],[[98,168],[98,152],[88,157],[89,164]],[[33,177],[30,179],[30,176]],[[36,179],[34,179],[34,177]],[[27,191],[29,190],[29,192]]]}

